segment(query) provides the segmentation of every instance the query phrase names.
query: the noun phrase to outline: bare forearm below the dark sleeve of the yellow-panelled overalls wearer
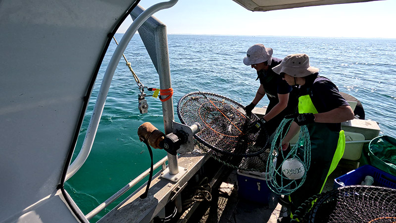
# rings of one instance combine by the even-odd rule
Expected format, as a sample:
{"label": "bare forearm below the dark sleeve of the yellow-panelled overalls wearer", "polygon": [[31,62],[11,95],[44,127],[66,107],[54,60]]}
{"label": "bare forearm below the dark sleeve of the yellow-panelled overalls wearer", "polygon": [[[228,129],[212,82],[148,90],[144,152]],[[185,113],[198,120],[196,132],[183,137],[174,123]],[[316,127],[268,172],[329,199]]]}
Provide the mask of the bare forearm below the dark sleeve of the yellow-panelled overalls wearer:
{"label": "bare forearm below the dark sleeve of the yellow-panelled overalls wearer", "polygon": [[340,123],[354,118],[354,114],[350,106],[340,106],[331,111],[314,114],[314,116],[314,122],[321,123]]}

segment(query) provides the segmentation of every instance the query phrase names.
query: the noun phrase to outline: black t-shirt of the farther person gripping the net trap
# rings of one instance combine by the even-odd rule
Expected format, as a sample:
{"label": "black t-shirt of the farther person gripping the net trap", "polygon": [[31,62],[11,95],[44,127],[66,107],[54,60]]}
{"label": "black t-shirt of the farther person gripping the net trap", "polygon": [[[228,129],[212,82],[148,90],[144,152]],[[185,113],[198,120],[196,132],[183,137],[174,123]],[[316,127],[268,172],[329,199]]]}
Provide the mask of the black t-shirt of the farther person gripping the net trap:
{"label": "black t-shirt of the farther person gripping the net trap", "polygon": [[[275,73],[272,68],[282,62],[282,59],[272,57],[271,65],[267,71],[257,71],[257,79],[260,79],[260,84],[263,85],[265,93],[270,101],[279,102],[278,94],[284,95],[292,91],[292,87],[282,80],[281,75]],[[256,79],[256,80],[257,80]]]}

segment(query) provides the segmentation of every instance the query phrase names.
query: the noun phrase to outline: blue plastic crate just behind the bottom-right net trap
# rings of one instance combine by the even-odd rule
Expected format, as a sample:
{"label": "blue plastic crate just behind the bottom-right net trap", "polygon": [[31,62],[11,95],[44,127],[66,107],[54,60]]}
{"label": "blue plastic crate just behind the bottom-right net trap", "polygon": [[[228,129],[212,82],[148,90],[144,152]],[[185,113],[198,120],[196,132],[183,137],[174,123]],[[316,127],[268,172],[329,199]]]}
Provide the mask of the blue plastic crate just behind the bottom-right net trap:
{"label": "blue plastic crate just behind the bottom-right net trap", "polygon": [[[382,186],[396,189],[396,176],[370,165],[364,165],[334,179],[334,189],[341,186],[360,185],[369,175],[374,178],[373,186]],[[344,183],[344,185],[343,185]]]}

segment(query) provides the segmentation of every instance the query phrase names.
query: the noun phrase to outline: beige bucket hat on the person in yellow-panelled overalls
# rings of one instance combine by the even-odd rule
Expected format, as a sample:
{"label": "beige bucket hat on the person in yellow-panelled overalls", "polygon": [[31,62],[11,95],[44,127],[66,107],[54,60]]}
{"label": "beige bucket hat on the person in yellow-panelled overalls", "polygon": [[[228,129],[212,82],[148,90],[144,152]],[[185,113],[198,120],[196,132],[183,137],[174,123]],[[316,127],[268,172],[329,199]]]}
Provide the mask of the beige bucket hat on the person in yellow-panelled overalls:
{"label": "beige bucket hat on the person in yellow-panelled overalls", "polygon": [[286,73],[292,77],[306,77],[319,72],[319,69],[309,65],[309,57],[306,54],[292,54],[286,56],[282,62],[273,67],[272,70],[277,73]]}

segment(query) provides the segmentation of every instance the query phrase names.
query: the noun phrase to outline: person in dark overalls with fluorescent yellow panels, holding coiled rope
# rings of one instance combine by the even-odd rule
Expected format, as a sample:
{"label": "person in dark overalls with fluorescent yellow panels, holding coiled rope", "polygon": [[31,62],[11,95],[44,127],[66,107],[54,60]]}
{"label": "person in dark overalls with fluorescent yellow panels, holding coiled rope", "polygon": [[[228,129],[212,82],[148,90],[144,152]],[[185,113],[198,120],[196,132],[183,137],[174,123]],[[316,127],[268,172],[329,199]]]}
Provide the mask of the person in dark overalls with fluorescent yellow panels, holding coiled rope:
{"label": "person in dark overalls with fluorescent yellow panels, holding coiled rope", "polygon": [[328,78],[319,76],[318,68],[310,66],[306,54],[286,56],[273,71],[289,85],[299,86],[298,113],[285,117],[294,118],[294,122],[282,140],[281,149],[290,146],[290,140],[301,125],[307,126],[311,143],[311,163],[305,181],[288,197],[291,217],[278,219],[285,223],[290,222],[293,215],[298,216],[297,208],[303,202],[322,192],[327,177],[344,154],[345,134],[341,122],[353,119],[354,114],[337,86]]}

